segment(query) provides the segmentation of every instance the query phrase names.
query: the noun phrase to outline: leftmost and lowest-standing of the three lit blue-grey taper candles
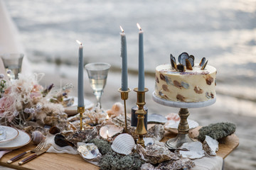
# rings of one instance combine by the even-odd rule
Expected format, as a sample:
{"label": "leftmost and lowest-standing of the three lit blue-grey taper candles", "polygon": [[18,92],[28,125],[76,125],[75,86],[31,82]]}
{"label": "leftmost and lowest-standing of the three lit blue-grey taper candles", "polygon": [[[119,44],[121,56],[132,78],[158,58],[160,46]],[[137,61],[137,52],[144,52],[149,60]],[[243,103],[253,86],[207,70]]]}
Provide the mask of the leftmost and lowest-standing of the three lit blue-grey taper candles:
{"label": "leftmost and lowest-standing of the three lit blue-grey taper candles", "polygon": [[78,107],[84,107],[84,96],[83,96],[83,55],[82,55],[82,43],[77,40],[79,46],[79,59],[78,59]]}

